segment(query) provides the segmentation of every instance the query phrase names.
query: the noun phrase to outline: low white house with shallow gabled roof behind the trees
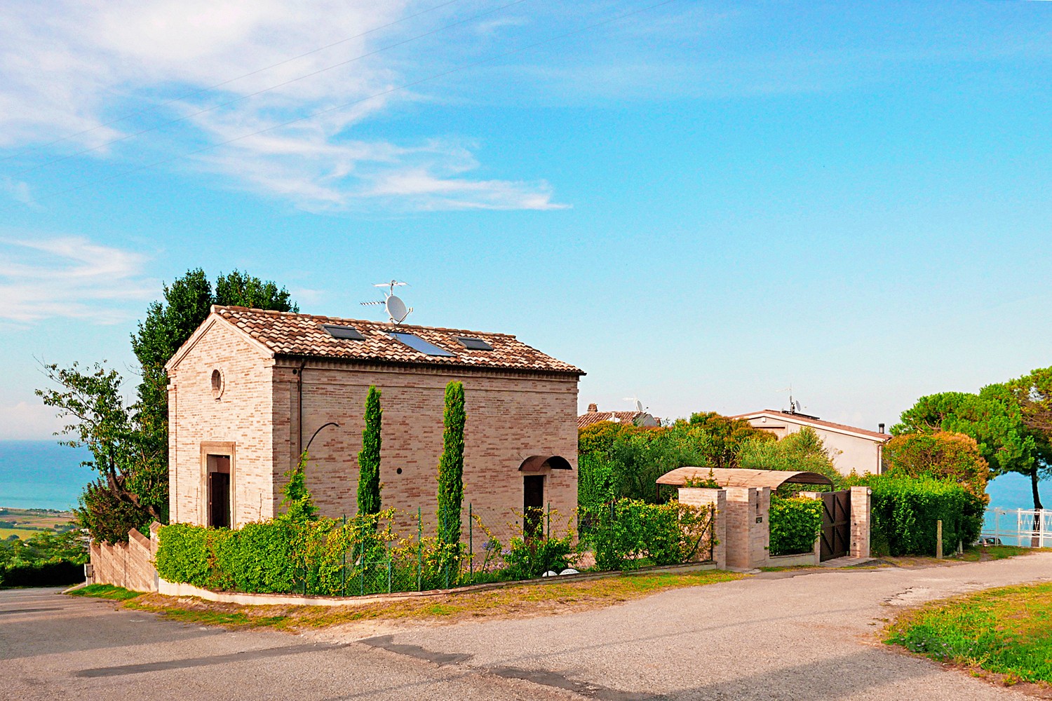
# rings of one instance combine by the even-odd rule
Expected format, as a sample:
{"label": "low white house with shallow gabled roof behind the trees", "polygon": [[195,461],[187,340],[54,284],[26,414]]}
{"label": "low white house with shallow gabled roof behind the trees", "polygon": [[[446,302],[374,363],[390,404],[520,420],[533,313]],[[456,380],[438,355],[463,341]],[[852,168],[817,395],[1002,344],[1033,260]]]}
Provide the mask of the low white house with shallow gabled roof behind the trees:
{"label": "low white house with shallow gabled roof behind the trees", "polygon": [[[753,427],[770,431],[778,438],[796,433],[805,426],[810,427],[829,449],[833,466],[845,475],[850,474],[852,470],[858,474],[865,472],[879,474],[884,444],[891,438],[883,431],[868,431],[853,426],[823,421],[817,416],[773,409],[739,414],[731,418],[744,418]],[[881,428],[884,428],[883,424]]]}

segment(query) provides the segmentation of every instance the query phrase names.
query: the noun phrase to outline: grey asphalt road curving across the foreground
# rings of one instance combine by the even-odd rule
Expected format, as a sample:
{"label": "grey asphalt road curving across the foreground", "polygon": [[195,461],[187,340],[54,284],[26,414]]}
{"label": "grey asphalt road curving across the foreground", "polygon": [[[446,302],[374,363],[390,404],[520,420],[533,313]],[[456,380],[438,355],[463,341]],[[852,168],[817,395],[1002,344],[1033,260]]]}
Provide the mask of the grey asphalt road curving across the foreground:
{"label": "grey asphalt road curving across the foreground", "polygon": [[1048,579],[1052,553],[763,575],[598,611],[380,636],[202,628],[54,591],[8,591],[0,698],[1021,699],[896,653],[874,632],[905,605]]}

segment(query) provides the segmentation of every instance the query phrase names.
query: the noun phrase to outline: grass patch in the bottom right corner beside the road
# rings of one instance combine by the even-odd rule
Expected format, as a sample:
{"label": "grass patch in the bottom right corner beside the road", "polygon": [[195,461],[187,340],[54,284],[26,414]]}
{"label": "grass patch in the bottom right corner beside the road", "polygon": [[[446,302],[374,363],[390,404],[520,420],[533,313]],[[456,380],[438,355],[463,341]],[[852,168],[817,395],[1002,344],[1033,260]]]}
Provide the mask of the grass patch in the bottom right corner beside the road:
{"label": "grass patch in the bottom right corner beside the road", "polygon": [[1002,675],[1002,681],[1052,682],[1052,583],[992,589],[927,604],[899,616],[885,642],[933,659]]}

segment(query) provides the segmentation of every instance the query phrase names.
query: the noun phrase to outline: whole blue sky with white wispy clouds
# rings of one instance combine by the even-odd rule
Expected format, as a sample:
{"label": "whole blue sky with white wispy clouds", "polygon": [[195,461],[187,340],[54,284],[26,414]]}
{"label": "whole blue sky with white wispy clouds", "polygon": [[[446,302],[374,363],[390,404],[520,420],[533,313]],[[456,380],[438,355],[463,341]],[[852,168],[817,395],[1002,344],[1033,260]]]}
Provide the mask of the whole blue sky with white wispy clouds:
{"label": "whole blue sky with white wispy clouds", "polygon": [[56,427],[38,358],[130,369],[196,266],[333,315],[408,281],[413,323],[584,368],[582,408],[792,385],[875,428],[1052,365],[1052,3],[676,0],[547,41],[652,2],[510,2],[0,9],[0,438]]}

